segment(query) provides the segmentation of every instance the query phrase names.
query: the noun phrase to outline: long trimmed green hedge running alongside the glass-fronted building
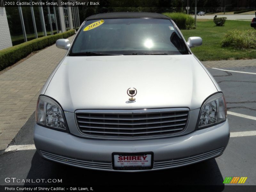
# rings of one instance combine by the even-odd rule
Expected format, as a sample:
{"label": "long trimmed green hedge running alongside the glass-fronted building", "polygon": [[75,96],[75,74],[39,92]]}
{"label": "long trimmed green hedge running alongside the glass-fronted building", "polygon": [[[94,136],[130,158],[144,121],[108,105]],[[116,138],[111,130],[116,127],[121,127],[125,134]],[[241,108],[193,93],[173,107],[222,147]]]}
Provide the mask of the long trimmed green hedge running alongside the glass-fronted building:
{"label": "long trimmed green hedge running alongside the glass-fronted building", "polygon": [[75,34],[75,30],[71,29],[63,33],[40,37],[19,45],[0,50],[0,71],[6,67],[13,65],[22,58],[28,56],[31,52],[41,50],[47,46],[54,44],[57,39],[65,39],[69,36],[72,36],[73,34]]}

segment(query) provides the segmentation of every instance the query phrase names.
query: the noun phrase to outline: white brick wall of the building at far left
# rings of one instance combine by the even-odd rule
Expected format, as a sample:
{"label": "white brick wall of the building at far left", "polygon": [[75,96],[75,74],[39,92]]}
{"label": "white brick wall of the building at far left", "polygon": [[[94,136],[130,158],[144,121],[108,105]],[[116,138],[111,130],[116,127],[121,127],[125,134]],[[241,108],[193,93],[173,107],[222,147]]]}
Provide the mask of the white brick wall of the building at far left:
{"label": "white brick wall of the building at far left", "polygon": [[4,7],[0,7],[0,50],[12,47],[12,39]]}

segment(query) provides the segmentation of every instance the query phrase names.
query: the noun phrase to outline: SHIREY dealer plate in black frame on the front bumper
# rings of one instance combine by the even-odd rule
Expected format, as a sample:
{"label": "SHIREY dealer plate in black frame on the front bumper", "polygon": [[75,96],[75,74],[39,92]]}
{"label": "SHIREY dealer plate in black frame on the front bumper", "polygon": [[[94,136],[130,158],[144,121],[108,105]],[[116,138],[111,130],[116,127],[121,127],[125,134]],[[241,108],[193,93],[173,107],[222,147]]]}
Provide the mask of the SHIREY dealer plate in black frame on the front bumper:
{"label": "SHIREY dealer plate in black frame on the front bumper", "polygon": [[153,153],[113,153],[113,168],[116,170],[152,169]]}

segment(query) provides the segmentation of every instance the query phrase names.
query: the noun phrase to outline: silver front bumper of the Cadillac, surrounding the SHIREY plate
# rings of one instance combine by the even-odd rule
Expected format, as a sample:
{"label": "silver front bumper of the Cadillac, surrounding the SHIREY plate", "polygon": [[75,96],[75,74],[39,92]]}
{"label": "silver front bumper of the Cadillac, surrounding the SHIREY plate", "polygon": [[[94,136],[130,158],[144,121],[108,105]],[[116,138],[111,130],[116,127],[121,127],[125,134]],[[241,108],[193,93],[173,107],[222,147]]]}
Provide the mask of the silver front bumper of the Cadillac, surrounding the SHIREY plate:
{"label": "silver front bumper of the Cadillac, surrounding the SHIREY plate", "polygon": [[[152,151],[151,170],[197,163],[220,156],[229,140],[228,120],[186,135],[148,140],[100,140],[77,137],[35,124],[34,142],[39,154],[48,160],[81,168],[119,171],[112,168],[112,153]],[[128,170],[124,172],[150,171]]]}

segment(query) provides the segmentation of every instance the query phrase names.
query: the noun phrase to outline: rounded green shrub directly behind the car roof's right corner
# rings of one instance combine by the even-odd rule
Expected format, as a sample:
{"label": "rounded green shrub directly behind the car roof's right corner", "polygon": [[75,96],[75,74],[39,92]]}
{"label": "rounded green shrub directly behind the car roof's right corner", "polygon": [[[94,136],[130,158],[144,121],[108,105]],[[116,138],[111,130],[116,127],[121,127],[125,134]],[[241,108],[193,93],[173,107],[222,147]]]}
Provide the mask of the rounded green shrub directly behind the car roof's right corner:
{"label": "rounded green shrub directly behind the car roof's right corner", "polygon": [[193,27],[195,21],[194,19],[184,13],[163,13],[164,15],[170,17],[180,29],[190,29]]}

